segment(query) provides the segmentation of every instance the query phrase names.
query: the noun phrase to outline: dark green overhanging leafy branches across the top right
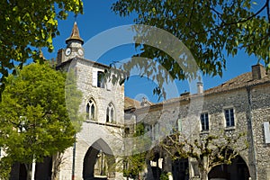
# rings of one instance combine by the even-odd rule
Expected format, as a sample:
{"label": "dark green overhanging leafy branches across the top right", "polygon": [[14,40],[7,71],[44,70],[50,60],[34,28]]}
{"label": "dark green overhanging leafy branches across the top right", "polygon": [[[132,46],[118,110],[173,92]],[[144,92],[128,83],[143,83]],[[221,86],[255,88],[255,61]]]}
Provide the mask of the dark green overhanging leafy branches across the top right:
{"label": "dark green overhanging leafy branches across the top right", "polygon": [[[191,51],[202,73],[210,76],[222,76],[226,56],[235,56],[239,49],[248,55],[254,54],[270,67],[269,9],[269,0],[258,3],[252,0],[118,0],[112,4],[116,14],[137,14],[134,23],[155,26],[175,35]],[[148,31],[136,31],[140,36],[135,38],[148,36]],[[160,39],[158,35],[156,38]],[[170,54],[144,42],[136,45],[139,53],[134,57],[153,58],[173,79],[186,79],[183,67]],[[144,74],[153,75],[156,71],[151,66],[150,62],[143,64],[134,60],[124,70],[141,67]],[[157,79],[158,75],[154,77]],[[156,93],[160,92],[162,89],[157,88]]]}

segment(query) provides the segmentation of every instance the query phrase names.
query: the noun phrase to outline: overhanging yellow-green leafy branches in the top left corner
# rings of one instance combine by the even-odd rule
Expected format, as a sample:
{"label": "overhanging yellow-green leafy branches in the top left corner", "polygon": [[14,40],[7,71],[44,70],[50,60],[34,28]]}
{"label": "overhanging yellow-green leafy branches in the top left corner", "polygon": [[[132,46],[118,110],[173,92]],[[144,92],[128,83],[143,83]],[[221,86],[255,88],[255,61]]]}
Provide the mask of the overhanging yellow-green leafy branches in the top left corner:
{"label": "overhanging yellow-green leafy branches in the top left corner", "polygon": [[[0,78],[4,79],[15,65],[23,67],[29,58],[39,59],[42,47],[53,50],[52,39],[58,34],[58,20],[67,18],[68,12],[83,13],[81,0],[0,2]],[[1,91],[1,92],[2,92]],[[1,93],[0,92],[0,93]]]}

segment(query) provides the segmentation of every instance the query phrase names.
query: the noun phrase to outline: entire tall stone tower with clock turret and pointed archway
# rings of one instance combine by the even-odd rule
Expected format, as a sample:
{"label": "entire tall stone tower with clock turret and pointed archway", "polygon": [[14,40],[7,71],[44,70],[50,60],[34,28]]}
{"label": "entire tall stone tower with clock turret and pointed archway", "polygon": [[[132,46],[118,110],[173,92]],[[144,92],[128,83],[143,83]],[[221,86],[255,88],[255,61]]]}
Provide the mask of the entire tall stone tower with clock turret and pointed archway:
{"label": "entire tall stone tower with clock turret and pointed archway", "polygon": [[[80,112],[85,117],[82,130],[76,134],[74,147],[64,153],[65,161],[60,166],[58,179],[94,179],[94,176],[107,176],[109,179],[121,179],[115,173],[117,157],[122,150],[122,126],[124,117],[124,86],[112,84],[110,76],[104,80],[105,69],[109,67],[87,60],[79,54],[82,47],[76,24],[67,39],[67,48],[58,51],[58,69],[74,72],[77,88],[83,94]],[[69,51],[71,50],[71,52]],[[72,120],[71,120],[72,121]],[[106,156],[103,169],[96,170],[96,157]],[[105,157],[104,157],[105,158]],[[103,172],[106,171],[106,172]],[[103,175],[94,175],[103,172]]]}

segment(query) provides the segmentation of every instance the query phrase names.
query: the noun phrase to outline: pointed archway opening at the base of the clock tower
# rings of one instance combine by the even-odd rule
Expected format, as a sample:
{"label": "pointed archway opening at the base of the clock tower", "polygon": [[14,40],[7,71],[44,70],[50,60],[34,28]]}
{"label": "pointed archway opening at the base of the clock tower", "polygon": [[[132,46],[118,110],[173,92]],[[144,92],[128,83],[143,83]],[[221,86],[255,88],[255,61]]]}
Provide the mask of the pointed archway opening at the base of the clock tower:
{"label": "pointed archway opening at the base of the clock tower", "polygon": [[88,148],[84,158],[84,180],[113,178],[115,158],[112,149],[103,139],[98,139]]}

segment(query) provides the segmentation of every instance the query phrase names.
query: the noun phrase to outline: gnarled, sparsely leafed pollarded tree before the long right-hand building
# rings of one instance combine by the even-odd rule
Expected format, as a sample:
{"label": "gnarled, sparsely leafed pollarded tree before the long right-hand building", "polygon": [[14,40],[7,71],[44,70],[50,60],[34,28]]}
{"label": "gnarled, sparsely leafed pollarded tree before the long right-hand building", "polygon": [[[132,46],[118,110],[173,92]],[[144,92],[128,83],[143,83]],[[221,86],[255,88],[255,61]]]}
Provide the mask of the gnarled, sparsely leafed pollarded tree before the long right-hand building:
{"label": "gnarled, sparsely leafed pollarded tree before the long right-hand building", "polygon": [[230,165],[233,158],[248,148],[246,141],[244,146],[238,146],[243,136],[243,133],[239,133],[236,136],[207,135],[201,139],[187,139],[184,133],[177,131],[161,142],[161,147],[174,160],[195,159],[200,169],[201,180],[208,180],[208,173],[212,167],[222,164]]}

